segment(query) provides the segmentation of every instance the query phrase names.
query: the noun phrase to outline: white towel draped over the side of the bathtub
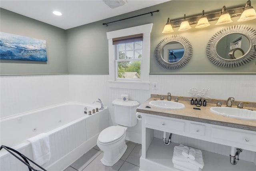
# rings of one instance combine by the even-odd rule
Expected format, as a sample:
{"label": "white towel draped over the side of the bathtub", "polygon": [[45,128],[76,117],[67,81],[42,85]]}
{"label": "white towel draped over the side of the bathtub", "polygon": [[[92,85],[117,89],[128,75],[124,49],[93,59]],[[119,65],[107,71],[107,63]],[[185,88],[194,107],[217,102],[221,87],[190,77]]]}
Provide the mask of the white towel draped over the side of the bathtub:
{"label": "white towel draped over the side of the bathtub", "polygon": [[48,134],[41,133],[29,138],[28,141],[32,146],[33,161],[35,163],[41,166],[50,160],[51,152]]}

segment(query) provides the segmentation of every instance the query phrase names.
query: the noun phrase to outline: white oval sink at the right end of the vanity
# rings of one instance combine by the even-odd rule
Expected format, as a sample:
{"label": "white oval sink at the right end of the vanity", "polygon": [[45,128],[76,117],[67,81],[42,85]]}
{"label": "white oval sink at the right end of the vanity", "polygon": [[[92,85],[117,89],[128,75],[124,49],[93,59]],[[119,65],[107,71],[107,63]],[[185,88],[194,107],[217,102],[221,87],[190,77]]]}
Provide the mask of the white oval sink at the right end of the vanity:
{"label": "white oval sink at the right end of the vanity", "polygon": [[226,117],[256,121],[256,111],[248,109],[239,109],[235,107],[211,107],[210,111],[214,114]]}

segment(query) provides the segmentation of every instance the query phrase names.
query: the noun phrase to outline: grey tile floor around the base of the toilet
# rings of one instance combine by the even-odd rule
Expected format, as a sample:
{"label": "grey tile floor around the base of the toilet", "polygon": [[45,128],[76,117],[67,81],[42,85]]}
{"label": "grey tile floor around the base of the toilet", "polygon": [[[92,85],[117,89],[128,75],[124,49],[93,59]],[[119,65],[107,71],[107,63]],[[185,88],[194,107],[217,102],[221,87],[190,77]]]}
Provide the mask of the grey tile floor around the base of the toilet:
{"label": "grey tile floor around the base of the toilet", "polygon": [[140,168],[141,145],[126,141],[128,146],[121,159],[112,167],[100,162],[103,152],[96,145],[82,155],[64,171],[138,171]]}

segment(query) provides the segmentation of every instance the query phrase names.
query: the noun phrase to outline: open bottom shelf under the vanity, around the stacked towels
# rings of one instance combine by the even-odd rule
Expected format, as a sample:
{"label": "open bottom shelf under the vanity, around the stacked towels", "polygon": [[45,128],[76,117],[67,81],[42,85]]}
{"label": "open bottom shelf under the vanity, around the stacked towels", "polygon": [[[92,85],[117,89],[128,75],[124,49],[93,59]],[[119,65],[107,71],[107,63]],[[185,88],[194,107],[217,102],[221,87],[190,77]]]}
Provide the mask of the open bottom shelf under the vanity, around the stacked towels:
{"label": "open bottom shelf under the vanity, around the stacked towels", "polygon": [[[174,146],[178,143],[164,145],[162,139],[153,138],[148,150],[146,151],[146,159],[140,158],[141,171],[167,171],[178,170],[174,168],[172,163]],[[204,168],[202,171],[255,171],[256,165],[250,161],[239,160],[236,165],[230,164],[230,157],[201,150],[204,159]],[[144,168],[145,167],[145,168]]]}

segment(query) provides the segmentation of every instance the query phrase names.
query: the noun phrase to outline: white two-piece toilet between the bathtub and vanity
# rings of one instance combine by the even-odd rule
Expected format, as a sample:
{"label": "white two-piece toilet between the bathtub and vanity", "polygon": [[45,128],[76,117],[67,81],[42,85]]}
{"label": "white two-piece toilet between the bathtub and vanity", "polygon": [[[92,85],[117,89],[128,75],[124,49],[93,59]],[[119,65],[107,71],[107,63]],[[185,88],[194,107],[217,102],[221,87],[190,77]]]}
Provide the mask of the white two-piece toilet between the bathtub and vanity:
{"label": "white two-piece toilet between the bathtub and vanity", "polygon": [[101,131],[97,139],[97,145],[103,151],[103,158],[100,161],[105,166],[113,166],[122,157],[127,149],[126,129],[137,125],[137,101],[115,99],[112,105],[114,122],[118,125],[107,127]]}

